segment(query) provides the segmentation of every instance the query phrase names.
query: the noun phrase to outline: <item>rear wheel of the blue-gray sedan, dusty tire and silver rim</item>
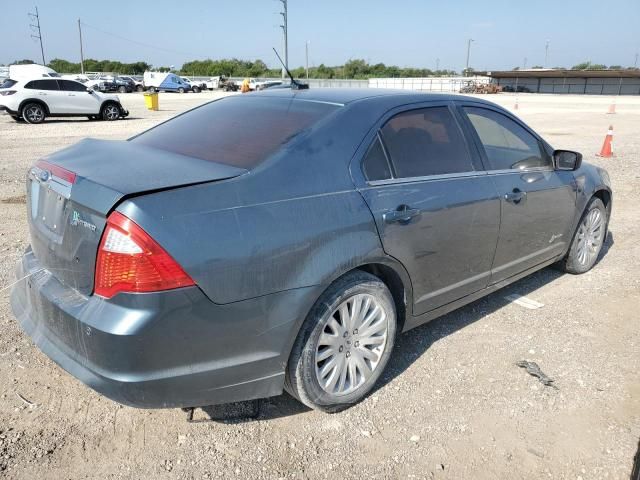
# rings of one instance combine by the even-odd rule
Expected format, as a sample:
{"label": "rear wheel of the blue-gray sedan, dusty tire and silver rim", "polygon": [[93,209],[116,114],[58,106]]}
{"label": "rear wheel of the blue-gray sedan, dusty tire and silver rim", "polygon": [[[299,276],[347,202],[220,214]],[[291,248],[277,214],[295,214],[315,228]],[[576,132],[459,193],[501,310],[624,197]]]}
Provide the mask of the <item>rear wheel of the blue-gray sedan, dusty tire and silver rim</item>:
{"label": "rear wheel of the blue-gray sedan, dusty tire and silver rim", "polygon": [[335,281],[309,312],[294,344],[286,390],[323,412],[362,400],[386,367],[396,336],[391,292],[356,271]]}

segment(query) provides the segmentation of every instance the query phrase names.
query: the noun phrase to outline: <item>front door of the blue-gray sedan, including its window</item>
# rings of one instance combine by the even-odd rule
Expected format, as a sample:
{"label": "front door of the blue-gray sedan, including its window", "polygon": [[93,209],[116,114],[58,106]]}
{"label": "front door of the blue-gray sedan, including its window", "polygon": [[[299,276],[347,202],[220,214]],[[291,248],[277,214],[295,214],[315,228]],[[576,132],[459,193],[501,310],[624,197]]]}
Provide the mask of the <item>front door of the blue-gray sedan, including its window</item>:
{"label": "front door of the blue-gray sedan, including its window", "polygon": [[575,211],[573,176],[555,171],[542,140],[515,118],[488,105],[463,103],[462,110],[501,196],[496,283],[565,251]]}

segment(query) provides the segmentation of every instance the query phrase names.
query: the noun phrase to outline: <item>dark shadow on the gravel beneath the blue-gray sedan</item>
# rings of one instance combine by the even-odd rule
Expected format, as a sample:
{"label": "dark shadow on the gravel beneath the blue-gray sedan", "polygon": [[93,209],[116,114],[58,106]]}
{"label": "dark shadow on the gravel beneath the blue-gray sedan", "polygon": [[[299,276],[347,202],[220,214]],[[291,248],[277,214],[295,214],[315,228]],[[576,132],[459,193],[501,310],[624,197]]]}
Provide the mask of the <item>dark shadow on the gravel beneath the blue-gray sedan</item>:
{"label": "dark shadow on the gravel beneath the blue-gray sedan", "polygon": [[[600,263],[613,244],[613,234],[608,232],[596,265]],[[544,268],[497,292],[401,334],[396,341],[396,346],[387,368],[369,393],[369,396],[401,375],[438,340],[475,323],[511,303],[505,298],[507,295],[527,296],[563,275],[565,274],[553,267]],[[205,406],[197,410],[198,412],[194,413],[192,420],[195,423],[204,421],[243,423],[254,420],[275,420],[311,411],[310,408],[287,393],[262,400]]]}

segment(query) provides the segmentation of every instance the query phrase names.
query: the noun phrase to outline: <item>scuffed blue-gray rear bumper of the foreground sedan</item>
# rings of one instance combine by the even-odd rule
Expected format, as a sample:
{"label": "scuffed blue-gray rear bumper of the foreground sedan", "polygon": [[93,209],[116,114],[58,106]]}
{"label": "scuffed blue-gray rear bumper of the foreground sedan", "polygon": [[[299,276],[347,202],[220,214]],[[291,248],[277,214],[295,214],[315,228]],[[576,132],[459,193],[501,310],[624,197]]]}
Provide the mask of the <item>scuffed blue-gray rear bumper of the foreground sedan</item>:
{"label": "scuffed blue-gray rear bumper of the foreground sedan", "polygon": [[[97,392],[141,408],[192,407],[278,395],[314,288],[229,305],[197,287],[85,297],[29,249],[11,306],[34,343]],[[286,307],[286,308],[285,308]],[[302,310],[300,310],[302,311]]]}

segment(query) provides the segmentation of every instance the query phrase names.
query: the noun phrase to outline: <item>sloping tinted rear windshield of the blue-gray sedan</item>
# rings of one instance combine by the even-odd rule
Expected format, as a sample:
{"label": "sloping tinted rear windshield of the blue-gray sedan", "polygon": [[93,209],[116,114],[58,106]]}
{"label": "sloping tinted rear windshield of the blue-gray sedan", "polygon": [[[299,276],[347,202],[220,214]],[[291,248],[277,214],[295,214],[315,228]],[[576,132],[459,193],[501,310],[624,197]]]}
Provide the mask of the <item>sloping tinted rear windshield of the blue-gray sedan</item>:
{"label": "sloping tinted rear windshield of the blue-gray sedan", "polygon": [[338,108],[282,98],[229,97],[180,115],[131,141],[251,169]]}

